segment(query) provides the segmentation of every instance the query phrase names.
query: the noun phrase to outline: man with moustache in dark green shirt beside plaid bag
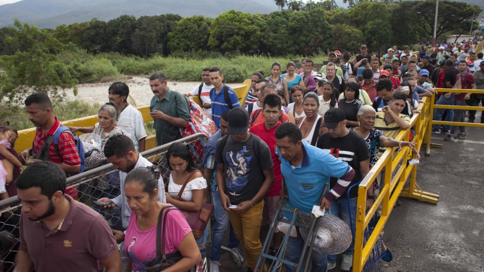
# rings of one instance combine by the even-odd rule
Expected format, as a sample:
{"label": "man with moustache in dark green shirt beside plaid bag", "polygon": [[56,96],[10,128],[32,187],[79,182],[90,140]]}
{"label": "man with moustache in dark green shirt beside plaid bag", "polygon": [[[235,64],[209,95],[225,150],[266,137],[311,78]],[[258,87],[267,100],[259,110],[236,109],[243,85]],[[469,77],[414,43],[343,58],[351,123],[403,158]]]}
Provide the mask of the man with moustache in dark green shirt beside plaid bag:
{"label": "man with moustache in dark green shirt beside plaid bag", "polygon": [[186,98],[168,88],[162,72],[154,72],[150,76],[150,88],[154,95],[150,102],[150,115],[154,121],[156,146],[180,139],[180,128],[185,127],[190,117]]}

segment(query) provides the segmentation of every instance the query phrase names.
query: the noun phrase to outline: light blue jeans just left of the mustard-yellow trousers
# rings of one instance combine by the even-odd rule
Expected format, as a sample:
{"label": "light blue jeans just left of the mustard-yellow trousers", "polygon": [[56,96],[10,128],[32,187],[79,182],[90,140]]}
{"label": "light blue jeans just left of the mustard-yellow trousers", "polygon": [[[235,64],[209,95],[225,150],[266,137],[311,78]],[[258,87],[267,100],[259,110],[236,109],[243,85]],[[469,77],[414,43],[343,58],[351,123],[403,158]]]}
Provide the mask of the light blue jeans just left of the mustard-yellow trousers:
{"label": "light blue jeans just left of the mustard-yellow trousers", "polygon": [[213,227],[212,231],[212,251],[210,252],[210,260],[219,260],[221,254],[220,246],[222,246],[223,236],[227,228],[230,228],[230,233],[228,236],[228,248],[237,247],[240,241],[237,239],[237,236],[235,235],[235,232],[228,221],[227,211],[222,207],[218,191],[212,190],[211,195],[213,203],[213,215],[215,216],[215,226]]}

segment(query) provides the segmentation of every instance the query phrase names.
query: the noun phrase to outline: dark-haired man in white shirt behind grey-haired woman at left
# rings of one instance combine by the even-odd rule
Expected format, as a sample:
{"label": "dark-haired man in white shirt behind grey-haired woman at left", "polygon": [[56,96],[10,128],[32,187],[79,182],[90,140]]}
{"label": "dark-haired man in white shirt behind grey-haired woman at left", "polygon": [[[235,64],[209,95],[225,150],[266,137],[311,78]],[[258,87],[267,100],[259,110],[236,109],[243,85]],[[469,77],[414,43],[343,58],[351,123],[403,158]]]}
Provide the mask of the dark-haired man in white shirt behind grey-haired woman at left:
{"label": "dark-haired man in white shirt behind grey-haired woman at left", "polygon": [[[136,151],[143,152],[146,148],[146,131],[144,129],[143,115],[135,107],[128,104],[129,87],[126,83],[116,81],[108,88],[108,99],[116,105],[120,112],[118,118],[118,127],[124,135],[131,138]],[[69,127],[74,133],[77,131],[83,133],[92,133],[95,126],[92,127]]]}

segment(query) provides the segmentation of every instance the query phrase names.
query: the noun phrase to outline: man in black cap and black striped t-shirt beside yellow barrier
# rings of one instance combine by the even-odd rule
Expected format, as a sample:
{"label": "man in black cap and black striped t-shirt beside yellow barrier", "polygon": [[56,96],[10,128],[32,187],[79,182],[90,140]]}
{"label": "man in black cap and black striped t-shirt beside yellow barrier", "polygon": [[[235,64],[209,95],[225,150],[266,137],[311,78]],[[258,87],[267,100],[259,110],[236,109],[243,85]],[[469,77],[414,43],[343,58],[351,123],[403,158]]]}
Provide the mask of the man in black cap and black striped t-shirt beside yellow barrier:
{"label": "man in black cap and black striped t-shirt beside yellow barrier", "polygon": [[[347,200],[347,191],[351,185],[362,180],[368,171],[370,171],[370,154],[365,140],[358,134],[346,128],[345,112],[339,108],[329,109],[324,114],[324,127],[328,132],[319,136],[317,147],[330,153],[341,161],[347,162],[354,170],[355,176],[347,189],[341,194],[341,197],[331,202],[331,214],[341,218],[348,226],[351,227],[349,210],[356,210],[358,199],[358,187],[355,186],[350,190],[349,203]],[[330,189],[338,183],[335,177],[330,178]],[[368,191],[368,196],[373,197],[373,189]],[[369,198],[367,207],[371,207],[373,200]],[[374,197],[373,197],[374,198]],[[349,208],[349,209],[348,209]],[[352,214],[353,221],[356,214]],[[350,247],[343,252],[341,257],[341,270],[349,271],[353,264],[354,240]],[[336,267],[336,255],[328,255],[328,270]]]}

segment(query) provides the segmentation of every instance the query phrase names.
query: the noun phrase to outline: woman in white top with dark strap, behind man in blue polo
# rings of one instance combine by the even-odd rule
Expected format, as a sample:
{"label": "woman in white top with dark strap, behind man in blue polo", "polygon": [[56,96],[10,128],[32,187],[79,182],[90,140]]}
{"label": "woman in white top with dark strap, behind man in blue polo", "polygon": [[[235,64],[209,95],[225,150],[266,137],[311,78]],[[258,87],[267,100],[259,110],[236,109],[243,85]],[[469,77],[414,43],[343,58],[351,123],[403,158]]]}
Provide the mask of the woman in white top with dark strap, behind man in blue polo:
{"label": "woman in white top with dark strap, behind man in blue polo", "polygon": [[303,109],[305,116],[301,117],[299,130],[303,135],[303,141],[312,146],[316,146],[319,135],[327,132],[328,129],[323,127],[323,117],[318,114],[319,98],[313,92],[307,93],[303,98]]}

